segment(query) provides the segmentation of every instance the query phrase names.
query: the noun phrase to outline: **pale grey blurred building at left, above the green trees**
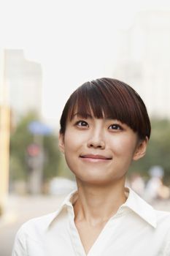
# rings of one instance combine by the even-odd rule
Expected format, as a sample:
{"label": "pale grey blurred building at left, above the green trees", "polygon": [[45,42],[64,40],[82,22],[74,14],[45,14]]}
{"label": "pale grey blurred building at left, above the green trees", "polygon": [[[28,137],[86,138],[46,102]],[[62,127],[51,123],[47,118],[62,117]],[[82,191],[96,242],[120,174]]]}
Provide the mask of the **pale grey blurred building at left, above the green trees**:
{"label": "pale grey blurred building at left, above the green trees", "polygon": [[23,50],[4,50],[4,80],[9,89],[9,105],[15,116],[42,108],[42,67],[28,61]]}

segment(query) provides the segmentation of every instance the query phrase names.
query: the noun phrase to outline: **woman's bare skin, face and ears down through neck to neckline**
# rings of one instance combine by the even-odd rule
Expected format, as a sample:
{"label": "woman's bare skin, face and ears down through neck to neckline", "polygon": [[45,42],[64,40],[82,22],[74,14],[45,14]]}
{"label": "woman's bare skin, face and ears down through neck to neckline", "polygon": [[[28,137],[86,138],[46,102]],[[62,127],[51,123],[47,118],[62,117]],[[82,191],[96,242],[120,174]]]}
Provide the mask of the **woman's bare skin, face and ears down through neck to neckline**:
{"label": "woman's bare skin, face and ears down through neck to neckline", "polygon": [[90,115],[74,115],[59,135],[59,148],[77,180],[74,222],[86,253],[125,203],[125,174],[144,156],[147,141],[118,120]]}

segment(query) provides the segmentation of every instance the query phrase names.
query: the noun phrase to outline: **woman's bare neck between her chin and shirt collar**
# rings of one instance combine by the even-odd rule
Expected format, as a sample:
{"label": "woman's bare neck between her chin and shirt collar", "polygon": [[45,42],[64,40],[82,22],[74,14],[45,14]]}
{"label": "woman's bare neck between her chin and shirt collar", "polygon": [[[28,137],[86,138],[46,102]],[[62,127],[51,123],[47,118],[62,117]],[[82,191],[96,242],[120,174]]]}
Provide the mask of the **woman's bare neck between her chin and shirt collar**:
{"label": "woman's bare neck between her chin and shirt collar", "polygon": [[74,203],[74,220],[90,225],[107,222],[125,203],[125,181],[100,187],[77,180],[78,198]]}

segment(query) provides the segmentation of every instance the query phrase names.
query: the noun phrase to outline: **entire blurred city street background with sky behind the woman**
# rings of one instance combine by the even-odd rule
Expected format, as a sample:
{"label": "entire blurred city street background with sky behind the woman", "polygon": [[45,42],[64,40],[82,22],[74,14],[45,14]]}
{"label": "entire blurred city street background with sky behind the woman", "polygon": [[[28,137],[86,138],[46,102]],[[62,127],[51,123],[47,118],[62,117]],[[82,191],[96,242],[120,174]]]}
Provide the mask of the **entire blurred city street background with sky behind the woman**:
{"label": "entire blurred city street background with sky behind the woman", "polygon": [[0,31],[0,255],[76,189],[58,129],[86,80],[117,78],[144,99],[152,136],[126,182],[170,211],[170,2],[0,1]]}

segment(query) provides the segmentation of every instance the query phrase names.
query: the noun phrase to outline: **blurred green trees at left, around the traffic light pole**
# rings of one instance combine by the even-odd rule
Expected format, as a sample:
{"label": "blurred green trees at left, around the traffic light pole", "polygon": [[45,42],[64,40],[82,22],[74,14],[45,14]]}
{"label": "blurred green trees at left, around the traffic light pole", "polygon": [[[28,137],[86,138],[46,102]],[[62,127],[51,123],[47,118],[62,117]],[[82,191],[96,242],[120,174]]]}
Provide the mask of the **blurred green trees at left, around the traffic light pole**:
{"label": "blurred green trees at left, around the traffic light pole", "polygon": [[[29,112],[20,118],[17,126],[13,129],[10,138],[10,179],[26,180],[28,178],[28,165],[26,162],[27,148],[34,142],[34,135],[28,130],[31,121],[38,121],[39,117],[34,112]],[[45,150],[45,163],[43,168],[43,178],[49,178],[58,174],[60,162],[58,151],[58,139],[54,134],[46,135],[43,138]]]}

